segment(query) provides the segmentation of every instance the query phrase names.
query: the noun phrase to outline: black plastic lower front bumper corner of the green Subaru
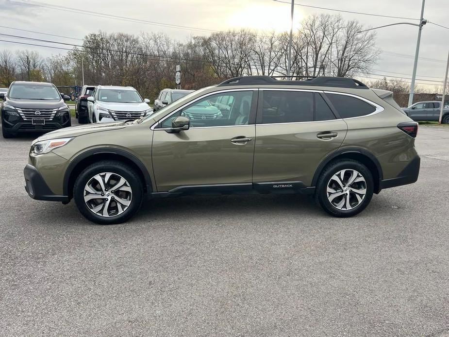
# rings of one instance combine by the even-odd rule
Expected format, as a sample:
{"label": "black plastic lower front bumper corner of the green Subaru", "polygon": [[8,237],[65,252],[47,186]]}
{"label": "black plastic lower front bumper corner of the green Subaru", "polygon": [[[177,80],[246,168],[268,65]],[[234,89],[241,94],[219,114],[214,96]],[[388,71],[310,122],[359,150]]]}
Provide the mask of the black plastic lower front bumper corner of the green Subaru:
{"label": "black plastic lower front bumper corner of the green Subaru", "polygon": [[36,200],[69,202],[68,196],[56,195],[51,192],[50,187],[45,183],[39,171],[30,164],[23,169],[25,176],[25,190],[28,195]]}

